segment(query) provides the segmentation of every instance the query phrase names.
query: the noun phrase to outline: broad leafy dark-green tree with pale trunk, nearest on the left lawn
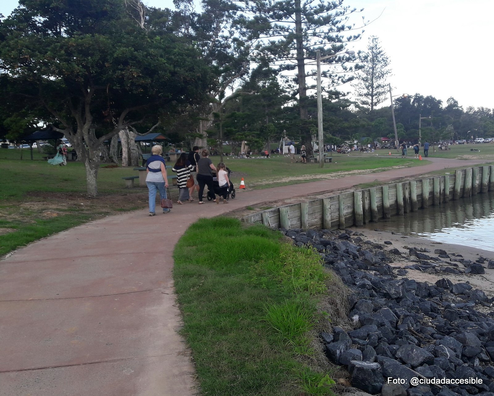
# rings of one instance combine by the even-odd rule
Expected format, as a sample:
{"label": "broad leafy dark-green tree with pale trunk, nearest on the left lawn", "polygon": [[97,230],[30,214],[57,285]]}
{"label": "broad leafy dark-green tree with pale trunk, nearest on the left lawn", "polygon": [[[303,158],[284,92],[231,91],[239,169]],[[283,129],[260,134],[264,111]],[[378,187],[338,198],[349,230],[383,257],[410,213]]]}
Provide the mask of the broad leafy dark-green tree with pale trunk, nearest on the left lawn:
{"label": "broad leafy dark-green tree with pale trunk, nearest on the left lawn", "polygon": [[0,87],[64,132],[82,158],[90,196],[105,140],[139,124],[152,129],[209,89],[192,45],[143,29],[125,5],[21,0],[0,22]]}

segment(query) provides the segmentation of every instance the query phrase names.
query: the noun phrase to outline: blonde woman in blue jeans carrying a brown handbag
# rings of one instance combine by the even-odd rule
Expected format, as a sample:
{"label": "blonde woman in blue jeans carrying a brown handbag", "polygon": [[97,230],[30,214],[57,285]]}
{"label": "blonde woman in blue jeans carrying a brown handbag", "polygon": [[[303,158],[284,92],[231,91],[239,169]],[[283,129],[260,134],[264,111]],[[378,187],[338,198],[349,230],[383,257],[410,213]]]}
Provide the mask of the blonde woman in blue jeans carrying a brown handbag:
{"label": "blonde woman in blue jeans carrying a brown handbag", "polygon": [[[146,162],[146,185],[149,191],[149,216],[156,215],[156,192],[160,192],[160,197],[166,199],[165,187],[168,188],[166,178],[165,159],[161,156],[162,147],[157,144],[151,148],[151,157]],[[163,208],[163,213],[168,213],[168,208]]]}

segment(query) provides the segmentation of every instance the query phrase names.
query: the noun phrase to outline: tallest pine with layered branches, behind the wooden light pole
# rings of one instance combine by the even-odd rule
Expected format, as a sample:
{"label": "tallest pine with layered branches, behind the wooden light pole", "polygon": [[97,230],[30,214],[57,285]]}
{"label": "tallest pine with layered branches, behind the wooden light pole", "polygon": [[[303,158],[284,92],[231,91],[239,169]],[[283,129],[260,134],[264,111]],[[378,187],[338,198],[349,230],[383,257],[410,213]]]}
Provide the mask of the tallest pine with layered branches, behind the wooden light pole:
{"label": "tallest pine with layered branches, behind the wooden light pole", "polygon": [[[346,43],[360,37],[360,34],[351,32],[354,26],[348,24],[349,14],[356,9],[344,5],[343,0],[256,0],[245,3],[246,10],[253,17],[250,25],[252,34],[268,43],[263,48],[264,59],[278,67],[281,75],[286,77],[288,88],[295,84],[291,93],[293,96],[298,95],[300,134],[310,151],[311,123],[303,121],[309,118],[307,60],[316,58],[316,49],[321,50],[322,56],[336,54],[344,49]],[[348,56],[337,56],[326,62],[342,65],[351,59]],[[311,63],[314,64],[313,61]],[[295,69],[294,76],[287,74]],[[343,66],[338,71],[323,72],[323,76],[329,78],[329,86],[334,87],[352,78],[345,74],[347,71],[351,71],[351,68]]]}

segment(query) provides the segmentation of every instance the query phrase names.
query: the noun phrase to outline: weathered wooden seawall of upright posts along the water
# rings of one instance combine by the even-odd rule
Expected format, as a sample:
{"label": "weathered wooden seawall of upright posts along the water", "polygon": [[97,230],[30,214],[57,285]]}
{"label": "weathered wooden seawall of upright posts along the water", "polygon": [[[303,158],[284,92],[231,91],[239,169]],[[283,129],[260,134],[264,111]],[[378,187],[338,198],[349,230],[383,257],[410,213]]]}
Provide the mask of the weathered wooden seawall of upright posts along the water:
{"label": "weathered wooden seawall of upright posts along the water", "polygon": [[494,166],[355,190],[244,217],[271,228],[344,229],[494,190]]}

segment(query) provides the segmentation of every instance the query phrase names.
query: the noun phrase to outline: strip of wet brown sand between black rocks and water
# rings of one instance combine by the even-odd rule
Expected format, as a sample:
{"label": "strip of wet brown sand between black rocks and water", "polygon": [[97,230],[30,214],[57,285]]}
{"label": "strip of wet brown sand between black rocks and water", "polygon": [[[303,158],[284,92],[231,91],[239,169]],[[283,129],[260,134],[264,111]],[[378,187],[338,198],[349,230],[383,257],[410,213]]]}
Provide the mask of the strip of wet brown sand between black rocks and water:
{"label": "strip of wet brown sand between black rocks and water", "polygon": [[[377,225],[377,224],[376,224]],[[376,242],[379,244],[383,244],[384,241],[389,241],[392,245],[385,245],[385,250],[388,251],[392,248],[397,248],[404,256],[403,259],[398,259],[392,266],[396,267],[404,267],[406,265],[416,264],[412,262],[414,259],[413,256],[409,255],[409,248],[424,248],[429,249],[430,252],[426,253],[431,257],[439,257],[438,254],[434,253],[435,249],[445,250],[448,254],[461,255],[464,259],[468,259],[471,261],[476,261],[479,257],[483,257],[486,260],[486,263],[483,264],[486,270],[485,274],[462,274],[462,275],[453,275],[450,273],[428,273],[422,272],[414,269],[407,269],[408,273],[404,277],[409,279],[414,279],[419,282],[428,282],[430,284],[435,283],[437,280],[442,278],[448,278],[453,283],[458,282],[468,282],[475,289],[480,289],[489,297],[494,297],[494,269],[487,268],[487,262],[491,259],[494,259],[494,252],[488,250],[481,250],[477,248],[472,248],[468,246],[460,246],[453,245],[448,243],[434,242],[426,238],[417,238],[412,236],[407,236],[399,233],[393,233],[391,231],[382,231],[378,228],[374,230],[370,230],[368,228],[357,228],[352,227],[353,231],[362,233],[365,237],[362,237],[364,240],[371,240],[372,242]],[[453,256],[452,256],[453,257]],[[410,259],[410,260],[408,260]],[[448,259],[441,259],[445,262]],[[464,266],[460,263],[458,264],[458,269],[464,269]],[[444,265],[444,264],[442,264]]]}

